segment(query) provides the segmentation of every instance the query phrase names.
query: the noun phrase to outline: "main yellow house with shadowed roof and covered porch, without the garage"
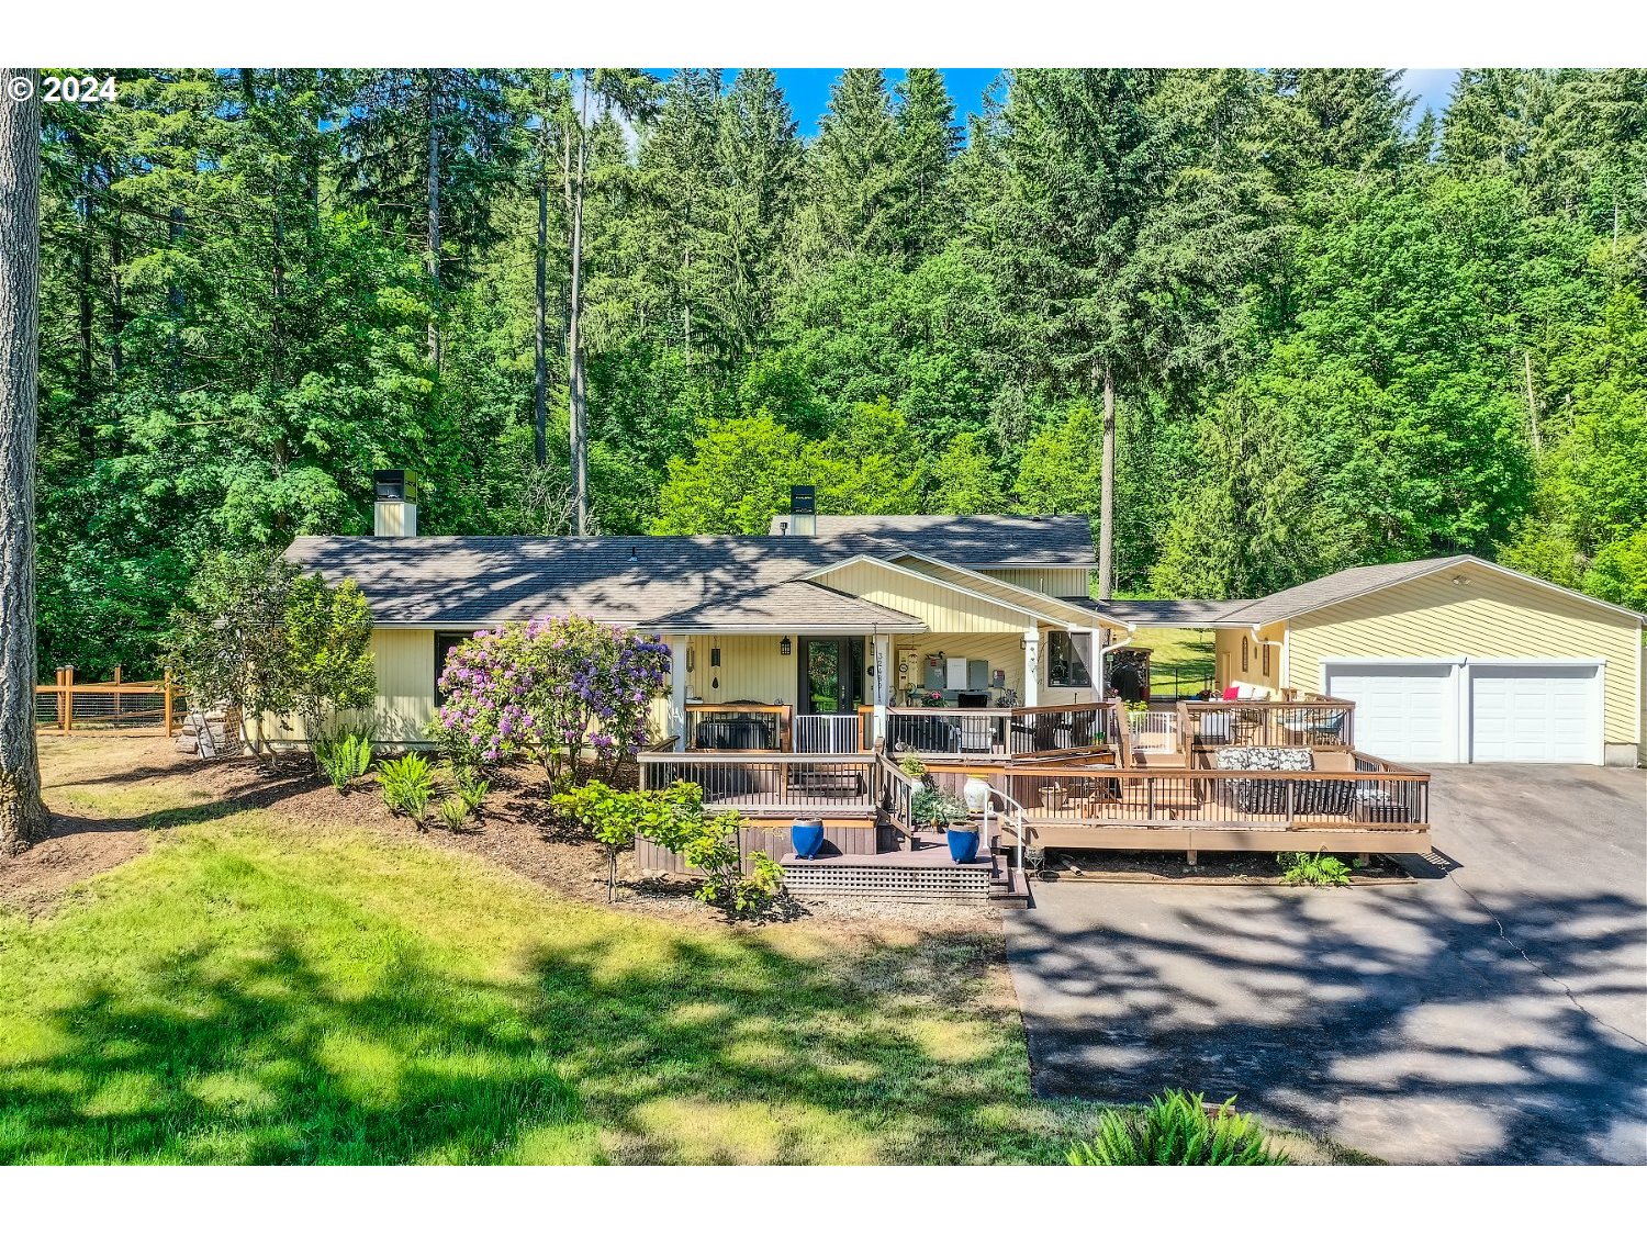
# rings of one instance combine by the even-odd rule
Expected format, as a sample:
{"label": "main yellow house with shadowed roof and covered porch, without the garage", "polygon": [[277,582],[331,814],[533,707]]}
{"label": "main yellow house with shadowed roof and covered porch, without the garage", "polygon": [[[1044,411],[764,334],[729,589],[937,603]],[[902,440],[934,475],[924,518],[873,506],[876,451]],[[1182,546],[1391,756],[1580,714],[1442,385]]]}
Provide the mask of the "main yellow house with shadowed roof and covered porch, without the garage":
{"label": "main yellow house with shadowed roof and covered porch, without the garage", "polygon": [[366,593],[385,743],[423,739],[451,645],[514,619],[642,629],[684,670],[657,705],[659,734],[730,749],[754,746],[754,726],[763,746],[796,751],[858,749],[871,726],[886,733],[889,710],[934,697],[1092,703],[1097,654],[1125,631],[1087,604],[1084,517],[799,514],[768,535],[420,537],[405,497],[380,486],[385,535],[300,537],[287,555]]}

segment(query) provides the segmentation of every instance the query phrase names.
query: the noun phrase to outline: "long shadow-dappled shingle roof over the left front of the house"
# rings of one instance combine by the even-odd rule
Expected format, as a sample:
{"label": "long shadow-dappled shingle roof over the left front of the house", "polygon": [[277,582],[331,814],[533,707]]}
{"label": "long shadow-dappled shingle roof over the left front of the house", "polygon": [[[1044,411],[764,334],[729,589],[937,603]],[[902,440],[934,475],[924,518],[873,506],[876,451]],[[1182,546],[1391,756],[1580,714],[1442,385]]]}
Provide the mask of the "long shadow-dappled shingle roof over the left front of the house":
{"label": "long shadow-dappled shingle roof over the left front of the house", "polygon": [[287,550],[329,581],[354,580],[385,624],[463,629],[580,613],[628,626],[921,629],[800,578],[840,555],[796,537],[298,537]]}

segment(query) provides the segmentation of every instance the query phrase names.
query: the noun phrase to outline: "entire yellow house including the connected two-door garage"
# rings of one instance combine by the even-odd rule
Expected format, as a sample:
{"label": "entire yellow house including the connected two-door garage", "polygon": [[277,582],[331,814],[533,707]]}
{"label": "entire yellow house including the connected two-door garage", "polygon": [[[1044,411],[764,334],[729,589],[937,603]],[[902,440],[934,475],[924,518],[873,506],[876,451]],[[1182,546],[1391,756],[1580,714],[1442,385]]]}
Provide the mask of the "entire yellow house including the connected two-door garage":
{"label": "entire yellow house including the connected two-door garage", "polygon": [[[903,725],[1003,756],[1000,713],[1102,701],[1105,649],[1199,627],[1215,631],[1220,688],[1351,700],[1357,746],[1383,759],[1642,753],[1642,614],[1467,555],[1260,599],[1100,603],[1079,515],[830,517],[797,489],[768,535],[420,537],[413,494],[384,478],[379,535],[300,537],[288,558],[364,590],[385,743],[423,739],[458,641],[580,613],[672,645],[654,728],[684,749],[856,751]],[[949,718],[907,715],[917,703]]]}

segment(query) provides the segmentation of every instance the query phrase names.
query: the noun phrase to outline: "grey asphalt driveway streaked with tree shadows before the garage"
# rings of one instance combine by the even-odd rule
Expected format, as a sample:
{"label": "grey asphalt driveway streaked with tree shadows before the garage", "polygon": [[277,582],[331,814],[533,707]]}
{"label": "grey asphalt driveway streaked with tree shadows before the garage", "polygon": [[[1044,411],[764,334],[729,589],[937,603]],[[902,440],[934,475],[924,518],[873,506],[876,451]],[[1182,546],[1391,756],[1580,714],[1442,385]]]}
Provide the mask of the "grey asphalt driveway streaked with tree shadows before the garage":
{"label": "grey asphalt driveway streaked with tree shadows before the garage", "polygon": [[1036,1088],[1168,1085],[1397,1163],[1647,1163],[1647,772],[1436,767],[1438,860],[1354,889],[1044,883]]}

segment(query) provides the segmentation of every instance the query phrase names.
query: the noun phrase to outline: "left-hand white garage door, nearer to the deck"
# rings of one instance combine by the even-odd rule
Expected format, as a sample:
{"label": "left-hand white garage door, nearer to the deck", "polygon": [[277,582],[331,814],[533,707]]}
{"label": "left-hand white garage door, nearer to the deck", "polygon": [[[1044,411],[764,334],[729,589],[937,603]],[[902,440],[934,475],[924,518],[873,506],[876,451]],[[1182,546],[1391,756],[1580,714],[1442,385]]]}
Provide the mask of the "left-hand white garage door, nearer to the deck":
{"label": "left-hand white garage door, nearer to the deck", "polygon": [[1458,759],[1453,665],[1329,667],[1327,693],[1355,703],[1355,746],[1398,764]]}

